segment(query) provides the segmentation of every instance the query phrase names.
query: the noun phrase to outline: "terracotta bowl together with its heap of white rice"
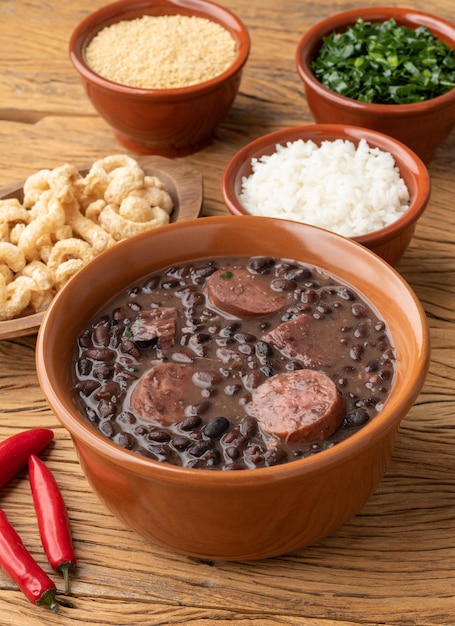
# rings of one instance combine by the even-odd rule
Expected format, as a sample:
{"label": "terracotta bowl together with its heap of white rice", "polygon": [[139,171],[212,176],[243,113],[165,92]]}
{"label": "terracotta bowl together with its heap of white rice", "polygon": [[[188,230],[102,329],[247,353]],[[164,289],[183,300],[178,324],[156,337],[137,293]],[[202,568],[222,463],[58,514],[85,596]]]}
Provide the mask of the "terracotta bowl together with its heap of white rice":
{"label": "terracotta bowl together with its heap of white rice", "polygon": [[338,233],[396,265],[431,191],[423,161],[370,129],[309,124],[244,146],[227,164],[222,194],[235,215],[303,222]]}

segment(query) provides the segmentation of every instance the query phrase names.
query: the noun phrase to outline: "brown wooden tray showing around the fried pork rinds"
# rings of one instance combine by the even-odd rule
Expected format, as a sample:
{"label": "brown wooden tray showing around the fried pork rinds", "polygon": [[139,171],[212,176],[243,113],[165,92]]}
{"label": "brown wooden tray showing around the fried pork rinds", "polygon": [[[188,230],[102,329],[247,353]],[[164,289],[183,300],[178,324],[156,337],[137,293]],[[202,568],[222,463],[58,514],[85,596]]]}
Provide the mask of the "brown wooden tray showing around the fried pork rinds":
{"label": "brown wooden tray showing around the fried pork rinds", "polygon": [[[166,191],[174,202],[171,222],[180,222],[199,216],[203,198],[203,182],[199,172],[184,163],[160,156],[134,158],[146,174],[156,176],[164,183]],[[81,167],[79,171],[85,175],[89,168],[90,165]],[[22,202],[23,185],[24,181],[21,181],[2,187],[0,198],[18,198]],[[44,315],[45,312],[34,313],[0,322],[0,340],[37,333]]]}

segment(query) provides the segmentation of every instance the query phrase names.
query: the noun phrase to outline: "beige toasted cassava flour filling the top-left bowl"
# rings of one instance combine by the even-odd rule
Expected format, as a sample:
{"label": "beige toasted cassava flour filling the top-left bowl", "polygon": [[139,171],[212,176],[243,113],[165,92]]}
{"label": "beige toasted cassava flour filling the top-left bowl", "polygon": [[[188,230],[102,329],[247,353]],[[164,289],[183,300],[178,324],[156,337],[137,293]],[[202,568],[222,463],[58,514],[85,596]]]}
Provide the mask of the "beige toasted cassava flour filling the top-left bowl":
{"label": "beige toasted cassava flour filling the top-left bowl", "polygon": [[100,30],[87,46],[88,66],[115,83],[173,89],[224,72],[237,46],[220,24],[187,15],[144,15]]}

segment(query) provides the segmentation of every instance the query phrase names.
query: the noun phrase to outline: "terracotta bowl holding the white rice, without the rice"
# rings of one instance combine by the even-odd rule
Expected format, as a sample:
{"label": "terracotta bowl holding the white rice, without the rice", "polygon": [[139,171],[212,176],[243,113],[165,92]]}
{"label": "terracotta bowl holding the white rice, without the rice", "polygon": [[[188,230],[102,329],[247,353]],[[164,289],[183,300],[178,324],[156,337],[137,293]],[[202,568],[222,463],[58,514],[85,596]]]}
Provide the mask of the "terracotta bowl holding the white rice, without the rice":
{"label": "terracotta bowl holding the white rice, without the rice", "polygon": [[[381,230],[353,237],[353,239],[391,265],[395,265],[411,241],[416,222],[428,204],[431,191],[430,177],[425,164],[412,150],[392,137],[374,130],[342,124],[308,124],[264,135],[244,146],[227,164],[221,182],[224,202],[231,213],[248,214],[240,201],[242,180],[252,173],[251,160],[273,154],[277,144],[284,146],[287,142],[302,139],[303,141],[311,140],[319,145],[322,141],[344,139],[357,145],[362,138],[370,147],[377,147],[393,155],[401,177],[408,187],[411,200],[407,212],[394,223]],[[278,217],[278,215],[272,217]]]}

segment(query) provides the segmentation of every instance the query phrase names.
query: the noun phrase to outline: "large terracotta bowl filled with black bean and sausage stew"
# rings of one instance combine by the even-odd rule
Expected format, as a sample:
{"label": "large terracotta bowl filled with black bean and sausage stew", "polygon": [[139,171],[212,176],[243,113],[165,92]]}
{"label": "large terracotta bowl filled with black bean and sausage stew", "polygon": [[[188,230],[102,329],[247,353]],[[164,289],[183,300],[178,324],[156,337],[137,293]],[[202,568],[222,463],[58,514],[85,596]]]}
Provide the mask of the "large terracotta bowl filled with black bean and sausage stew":
{"label": "large terracotta bowl filled with black bean and sausage stew", "polygon": [[390,265],[251,216],[120,242],[57,294],[37,341],[101,501],[148,540],[217,559],[298,550],[360,511],[428,363],[423,308]]}

